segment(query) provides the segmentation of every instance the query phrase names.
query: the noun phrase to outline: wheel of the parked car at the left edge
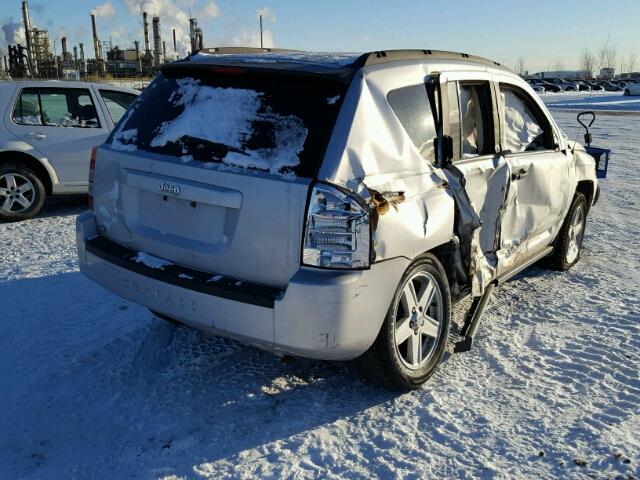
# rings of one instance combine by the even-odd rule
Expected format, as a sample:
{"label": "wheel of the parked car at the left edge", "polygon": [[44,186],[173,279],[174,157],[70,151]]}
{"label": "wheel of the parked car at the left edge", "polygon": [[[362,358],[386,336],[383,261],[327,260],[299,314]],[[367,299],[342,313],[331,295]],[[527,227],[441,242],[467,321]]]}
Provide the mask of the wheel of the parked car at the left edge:
{"label": "wheel of the parked car at the left edge", "polygon": [[22,165],[0,166],[0,220],[18,222],[36,216],[46,194],[33,171]]}

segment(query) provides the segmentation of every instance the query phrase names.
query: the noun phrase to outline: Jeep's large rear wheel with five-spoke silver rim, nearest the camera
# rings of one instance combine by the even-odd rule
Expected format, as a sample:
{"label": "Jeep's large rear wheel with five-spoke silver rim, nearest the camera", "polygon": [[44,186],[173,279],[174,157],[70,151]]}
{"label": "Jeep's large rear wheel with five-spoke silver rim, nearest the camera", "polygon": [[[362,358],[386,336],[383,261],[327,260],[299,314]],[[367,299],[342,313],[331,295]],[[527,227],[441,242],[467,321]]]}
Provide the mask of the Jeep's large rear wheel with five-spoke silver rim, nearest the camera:
{"label": "Jeep's large rear wheel with five-spoke silver rim, nearest the camera", "polygon": [[378,337],[358,359],[362,374],[387,388],[419,388],[442,360],[450,323],[447,275],[425,255],[403,275]]}

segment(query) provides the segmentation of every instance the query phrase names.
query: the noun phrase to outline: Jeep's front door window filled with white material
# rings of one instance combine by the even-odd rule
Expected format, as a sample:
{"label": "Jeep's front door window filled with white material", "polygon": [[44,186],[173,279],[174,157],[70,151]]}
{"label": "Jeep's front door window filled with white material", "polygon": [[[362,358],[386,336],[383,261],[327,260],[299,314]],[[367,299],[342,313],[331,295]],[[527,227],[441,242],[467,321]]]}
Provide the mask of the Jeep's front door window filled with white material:
{"label": "Jeep's front door window filled with white material", "polygon": [[548,122],[535,113],[532,99],[526,93],[516,92],[510,87],[500,86],[504,108],[504,146],[511,152],[525,152],[550,148]]}

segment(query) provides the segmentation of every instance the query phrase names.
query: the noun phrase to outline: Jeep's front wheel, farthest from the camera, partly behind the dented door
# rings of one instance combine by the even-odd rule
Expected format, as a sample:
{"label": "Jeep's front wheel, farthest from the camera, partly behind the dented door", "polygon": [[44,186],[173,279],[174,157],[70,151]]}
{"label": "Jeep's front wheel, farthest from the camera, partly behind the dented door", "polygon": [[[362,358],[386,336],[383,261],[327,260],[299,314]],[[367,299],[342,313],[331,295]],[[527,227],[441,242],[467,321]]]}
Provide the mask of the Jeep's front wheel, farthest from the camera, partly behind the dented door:
{"label": "Jeep's front wheel, farthest from the camera, partly behind the dented door", "polygon": [[576,193],[558,233],[553,253],[549,257],[549,267],[565,271],[580,260],[584,230],[587,226],[587,210],[585,196],[580,192]]}

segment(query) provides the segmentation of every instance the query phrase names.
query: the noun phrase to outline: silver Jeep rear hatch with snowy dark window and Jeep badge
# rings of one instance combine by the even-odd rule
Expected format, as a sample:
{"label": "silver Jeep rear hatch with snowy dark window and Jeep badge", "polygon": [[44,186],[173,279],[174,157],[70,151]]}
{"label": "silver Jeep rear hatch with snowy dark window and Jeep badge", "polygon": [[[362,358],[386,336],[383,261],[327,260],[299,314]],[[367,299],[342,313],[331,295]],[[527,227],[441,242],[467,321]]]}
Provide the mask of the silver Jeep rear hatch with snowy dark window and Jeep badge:
{"label": "silver Jeep rear hatch with snowy dark window and Jeep badge", "polygon": [[285,286],[346,88],[260,68],[159,75],[98,149],[99,231],[212,276]]}

